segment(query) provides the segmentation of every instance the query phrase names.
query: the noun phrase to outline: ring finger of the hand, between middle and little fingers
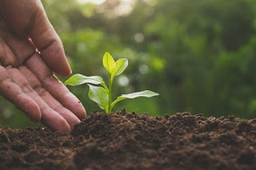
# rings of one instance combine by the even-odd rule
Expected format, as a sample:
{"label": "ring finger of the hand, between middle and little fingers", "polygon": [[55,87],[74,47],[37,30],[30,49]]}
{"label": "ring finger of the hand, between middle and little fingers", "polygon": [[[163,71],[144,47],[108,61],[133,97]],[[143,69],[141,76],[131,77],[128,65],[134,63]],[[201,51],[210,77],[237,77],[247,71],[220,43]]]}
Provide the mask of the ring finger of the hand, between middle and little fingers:
{"label": "ring finger of the hand, between middle and little fingers", "polygon": [[[43,125],[55,131],[70,132],[70,125],[68,125],[66,120],[42,100],[18,69],[9,68],[7,72],[10,74],[12,80],[21,87],[23,92],[38,104],[42,113],[41,121]],[[34,82],[37,83],[36,81]]]}

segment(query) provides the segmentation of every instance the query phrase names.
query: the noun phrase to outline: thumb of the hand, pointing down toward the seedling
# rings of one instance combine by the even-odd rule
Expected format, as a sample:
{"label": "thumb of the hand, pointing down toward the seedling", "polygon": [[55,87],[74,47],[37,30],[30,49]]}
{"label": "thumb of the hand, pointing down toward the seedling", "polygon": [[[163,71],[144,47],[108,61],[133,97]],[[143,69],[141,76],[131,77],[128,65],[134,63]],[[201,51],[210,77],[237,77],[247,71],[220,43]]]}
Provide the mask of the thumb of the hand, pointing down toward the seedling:
{"label": "thumb of the hand, pointing down toward the seedling", "polygon": [[66,60],[62,42],[46,17],[40,1],[38,1],[38,13],[29,35],[50,69],[59,76],[69,76],[71,69]]}

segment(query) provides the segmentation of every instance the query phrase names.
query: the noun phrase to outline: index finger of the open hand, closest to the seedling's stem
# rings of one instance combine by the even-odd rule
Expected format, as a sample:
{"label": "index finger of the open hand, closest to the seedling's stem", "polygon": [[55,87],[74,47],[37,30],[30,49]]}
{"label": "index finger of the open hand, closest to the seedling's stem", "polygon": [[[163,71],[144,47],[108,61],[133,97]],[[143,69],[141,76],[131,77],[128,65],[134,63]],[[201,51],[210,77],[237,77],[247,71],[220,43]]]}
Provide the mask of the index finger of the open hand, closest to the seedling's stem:
{"label": "index finger of the open hand, closest to the seedling's stem", "polygon": [[26,66],[38,77],[42,87],[46,89],[57,101],[74,113],[80,120],[86,117],[86,109],[82,106],[74,94],[54,77],[53,73],[47,67],[38,54],[34,54],[26,61]]}

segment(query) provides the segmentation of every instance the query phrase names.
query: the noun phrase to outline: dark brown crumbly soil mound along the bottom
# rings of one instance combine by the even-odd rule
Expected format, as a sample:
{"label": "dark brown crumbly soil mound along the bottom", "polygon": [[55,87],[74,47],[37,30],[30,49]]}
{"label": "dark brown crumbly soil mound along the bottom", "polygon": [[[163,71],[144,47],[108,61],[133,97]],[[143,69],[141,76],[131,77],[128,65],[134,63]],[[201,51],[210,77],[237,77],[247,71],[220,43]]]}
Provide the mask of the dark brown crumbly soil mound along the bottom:
{"label": "dark brown crumbly soil mound along the bottom", "polygon": [[256,169],[256,119],[92,113],[71,133],[0,129],[1,169]]}

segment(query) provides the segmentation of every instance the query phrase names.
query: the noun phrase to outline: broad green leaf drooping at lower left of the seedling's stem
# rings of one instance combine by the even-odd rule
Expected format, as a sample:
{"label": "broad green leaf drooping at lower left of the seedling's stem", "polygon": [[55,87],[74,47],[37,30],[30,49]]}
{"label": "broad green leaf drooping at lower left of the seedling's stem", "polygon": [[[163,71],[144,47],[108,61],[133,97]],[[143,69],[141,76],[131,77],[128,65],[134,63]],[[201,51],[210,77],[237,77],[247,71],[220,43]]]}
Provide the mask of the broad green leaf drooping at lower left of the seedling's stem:
{"label": "broad green leaf drooping at lower left of the seedling's stem", "polygon": [[106,89],[94,85],[89,85],[89,87],[90,100],[96,102],[101,109],[105,109],[105,111],[107,111],[109,108],[109,95]]}

